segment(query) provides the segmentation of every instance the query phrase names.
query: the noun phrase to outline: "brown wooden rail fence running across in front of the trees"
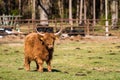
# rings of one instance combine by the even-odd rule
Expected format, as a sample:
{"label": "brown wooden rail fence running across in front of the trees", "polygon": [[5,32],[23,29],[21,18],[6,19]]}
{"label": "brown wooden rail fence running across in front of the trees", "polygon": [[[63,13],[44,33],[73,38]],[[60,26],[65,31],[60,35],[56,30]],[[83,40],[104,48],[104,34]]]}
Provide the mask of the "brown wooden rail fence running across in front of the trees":
{"label": "brown wooden rail fence running across in front of the trees", "polygon": [[[7,19],[6,19],[7,18]],[[46,26],[41,26],[40,22],[48,22],[49,24]],[[16,28],[22,33],[30,33],[35,31],[36,27],[52,27],[53,31],[58,31],[61,27],[63,28],[63,33],[67,34],[82,34],[82,35],[105,35],[105,21],[106,20],[96,20],[96,24],[93,24],[92,19],[82,20],[83,23],[79,24],[79,20],[72,19],[73,24],[69,24],[69,19],[54,19],[54,20],[32,20],[32,19],[20,19],[20,16],[7,16],[3,18],[0,16],[0,27],[9,27],[16,30]],[[109,34],[112,34],[112,26],[111,20],[109,21]],[[118,20],[118,24],[116,24],[116,31],[120,29],[120,20]],[[17,25],[17,26],[16,26]]]}

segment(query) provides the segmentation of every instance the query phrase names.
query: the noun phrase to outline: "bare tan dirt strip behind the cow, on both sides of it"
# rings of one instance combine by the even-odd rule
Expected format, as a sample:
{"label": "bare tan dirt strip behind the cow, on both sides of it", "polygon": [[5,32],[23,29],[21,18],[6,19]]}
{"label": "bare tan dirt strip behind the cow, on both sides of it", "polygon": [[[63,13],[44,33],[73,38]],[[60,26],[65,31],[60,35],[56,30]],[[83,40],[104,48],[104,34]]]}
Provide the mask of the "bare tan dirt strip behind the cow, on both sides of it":
{"label": "bare tan dirt strip behind the cow, on both sides of it", "polygon": [[[19,46],[19,43],[21,44],[24,42],[24,38],[25,38],[25,35],[7,35],[7,36],[4,36],[3,38],[0,38],[0,44],[12,43],[11,45],[13,45],[13,46],[16,44],[18,44],[18,46]],[[85,37],[82,37],[82,36],[78,35],[78,36],[71,36],[71,37],[66,37],[66,38],[60,37],[59,39],[56,40],[56,44],[57,45],[62,44],[62,43],[64,44],[69,41],[76,41],[76,42],[83,42],[83,43],[86,43],[86,42],[96,42],[96,43],[110,42],[110,43],[116,44],[116,43],[120,42],[120,38],[117,36],[109,36],[109,37],[85,36]],[[119,48],[119,46],[117,48]],[[79,49],[79,48],[76,48],[76,49]]]}

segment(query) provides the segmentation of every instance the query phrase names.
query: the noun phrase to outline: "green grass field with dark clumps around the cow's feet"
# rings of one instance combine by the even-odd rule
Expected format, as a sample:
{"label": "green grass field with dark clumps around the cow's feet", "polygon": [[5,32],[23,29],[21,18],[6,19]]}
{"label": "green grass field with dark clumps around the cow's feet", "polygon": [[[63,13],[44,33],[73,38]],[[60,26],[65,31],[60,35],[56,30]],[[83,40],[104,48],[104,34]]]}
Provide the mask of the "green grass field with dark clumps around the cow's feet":
{"label": "green grass field with dark clumps around the cow's feet", "polygon": [[0,80],[120,80],[120,41],[62,40],[55,44],[52,72],[24,70],[23,42],[0,44]]}

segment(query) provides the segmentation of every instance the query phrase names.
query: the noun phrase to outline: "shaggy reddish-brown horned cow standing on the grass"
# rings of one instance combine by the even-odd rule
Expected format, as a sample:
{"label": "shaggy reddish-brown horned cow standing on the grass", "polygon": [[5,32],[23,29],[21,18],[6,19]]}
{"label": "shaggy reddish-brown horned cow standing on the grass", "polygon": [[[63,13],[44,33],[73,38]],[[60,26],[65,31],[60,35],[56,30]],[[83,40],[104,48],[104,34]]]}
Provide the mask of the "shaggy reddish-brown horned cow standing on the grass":
{"label": "shaggy reddish-brown horned cow standing on the grass", "polygon": [[[59,34],[58,32],[57,34]],[[27,71],[30,70],[30,62],[35,61],[37,70],[43,72],[43,62],[46,61],[48,71],[51,71],[51,59],[54,50],[54,41],[57,34],[31,33],[25,38],[25,62]]]}

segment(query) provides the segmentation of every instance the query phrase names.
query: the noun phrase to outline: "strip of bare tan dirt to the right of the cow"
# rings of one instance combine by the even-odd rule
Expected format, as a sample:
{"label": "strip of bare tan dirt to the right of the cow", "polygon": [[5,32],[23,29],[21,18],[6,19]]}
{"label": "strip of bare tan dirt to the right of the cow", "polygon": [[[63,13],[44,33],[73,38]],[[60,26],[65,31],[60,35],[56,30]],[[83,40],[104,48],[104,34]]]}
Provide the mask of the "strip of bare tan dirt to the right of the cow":
{"label": "strip of bare tan dirt to the right of the cow", "polygon": [[120,38],[117,36],[71,36],[71,37],[66,37],[66,38],[60,38],[60,40],[57,40],[56,42],[58,44],[60,43],[66,43],[69,41],[76,41],[76,42],[82,42],[82,43],[86,43],[86,42],[95,42],[95,43],[100,43],[100,42],[104,42],[104,43],[113,43],[116,44],[118,42],[120,42]]}

